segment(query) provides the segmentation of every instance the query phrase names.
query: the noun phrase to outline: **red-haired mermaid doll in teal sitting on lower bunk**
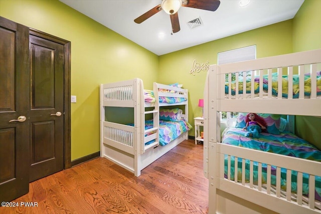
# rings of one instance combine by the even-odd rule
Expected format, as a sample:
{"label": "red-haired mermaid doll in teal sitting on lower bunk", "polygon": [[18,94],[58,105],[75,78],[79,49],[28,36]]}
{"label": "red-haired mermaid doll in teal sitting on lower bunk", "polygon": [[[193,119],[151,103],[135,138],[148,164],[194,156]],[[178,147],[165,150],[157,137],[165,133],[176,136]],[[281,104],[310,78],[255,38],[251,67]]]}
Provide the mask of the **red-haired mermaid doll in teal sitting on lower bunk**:
{"label": "red-haired mermaid doll in teal sitting on lower bunk", "polygon": [[246,126],[243,130],[247,130],[248,132],[245,133],[246,137],[259,137],[259,133],[262,132],[262,129],[266,129],[266,122],[264,118],[258,116],[255,113],[248,113],[246,115]]}

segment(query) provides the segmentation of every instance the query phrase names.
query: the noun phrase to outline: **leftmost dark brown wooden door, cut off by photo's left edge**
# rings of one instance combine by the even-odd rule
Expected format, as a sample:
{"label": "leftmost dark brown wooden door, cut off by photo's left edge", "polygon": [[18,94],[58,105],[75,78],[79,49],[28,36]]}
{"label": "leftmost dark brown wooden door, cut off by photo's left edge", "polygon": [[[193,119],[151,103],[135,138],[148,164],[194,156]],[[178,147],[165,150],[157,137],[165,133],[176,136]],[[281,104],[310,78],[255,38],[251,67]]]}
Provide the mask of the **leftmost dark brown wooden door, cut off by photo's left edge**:
{"label": "leftmost dark brown wooden door, cut off by photo's left edge", "polygon": [[29,191],[29,86],[29,28],[0,17],[0,201]]}

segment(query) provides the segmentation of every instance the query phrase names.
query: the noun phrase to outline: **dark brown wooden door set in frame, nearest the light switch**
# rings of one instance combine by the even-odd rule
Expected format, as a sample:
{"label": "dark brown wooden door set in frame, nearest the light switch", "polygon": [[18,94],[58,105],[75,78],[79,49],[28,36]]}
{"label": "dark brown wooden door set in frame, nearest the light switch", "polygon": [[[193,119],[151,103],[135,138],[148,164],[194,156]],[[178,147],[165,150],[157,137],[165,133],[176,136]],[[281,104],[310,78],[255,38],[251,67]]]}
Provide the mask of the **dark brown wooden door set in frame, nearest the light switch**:
{"label": "dark brown wooden door set in frame, nearest the light switch", "polygon": [[64,168],[64,46],[30,35],[30,181]]}

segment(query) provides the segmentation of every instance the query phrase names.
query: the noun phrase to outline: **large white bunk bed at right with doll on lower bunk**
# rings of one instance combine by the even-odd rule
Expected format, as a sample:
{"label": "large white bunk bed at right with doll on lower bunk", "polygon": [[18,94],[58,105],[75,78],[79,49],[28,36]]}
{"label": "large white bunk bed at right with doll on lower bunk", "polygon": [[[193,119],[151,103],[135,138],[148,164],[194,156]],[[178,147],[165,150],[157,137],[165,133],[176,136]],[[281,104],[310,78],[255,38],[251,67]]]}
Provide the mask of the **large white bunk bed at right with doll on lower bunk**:
{"label": "large white bunk bed at right with doll on lower bunk", "polygon": [[[245,71],[250,74],[248,81],[241,77],[246,76]],[[320,85],[311,84],[308,96],[303,93],[292,95],[294,88],[304,90],[304,84],[308,82],[304,83],[306,74],[309,81],[319,84],[320,71],[321,50],[210,66],[204,90],[204,175],[209,179],[209,213],[321,213],[320,160],[224,144],[220,130],[222,111],[320,117]],[[288,94],[285,97],[281,93],[273,95],[271,89],[282,88],[282,73],[288,76],[288,92],[283,90],[283,95]],[[231,81],[232,74],[236,77],[235,82]],[[294,85],[294,75],[298,75],[298,86]],[[263,77],[267,78],[267,91],[261,84]],[[272,77],[277,80],[273,87]],[[255,86],[257,81],[259,86]],[[255,87],[259,88],[257,94]],[[238,170],[234,170],[236,168]],[[266,170],[265,174],[263,170]],[[254,178],[256,173],[257,178]],[[284,174],[285,178],[281,178]],[[307,181],[302,184],[304,179]],[[291,184],[295,180],[296,190],[293,191]],[[307,188],[308,195],[302,194],[302,188]]]}

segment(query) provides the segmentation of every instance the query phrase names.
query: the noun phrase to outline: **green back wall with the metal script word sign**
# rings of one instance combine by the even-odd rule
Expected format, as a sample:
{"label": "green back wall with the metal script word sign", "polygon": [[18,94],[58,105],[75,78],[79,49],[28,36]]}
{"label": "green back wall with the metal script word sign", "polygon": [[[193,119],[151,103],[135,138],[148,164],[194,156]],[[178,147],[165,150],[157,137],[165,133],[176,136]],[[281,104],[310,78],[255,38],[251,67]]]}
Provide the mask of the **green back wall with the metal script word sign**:
{"label": "green back wall with the metal script word sign", "polygon": [[[193,118],[202,116],[198,100],[203,98],[206,72],[190,74],[193,61],[216,64],[218,53],[251,45],[256,45],[257,58],[292,53],[292,20],[162,55],[158,81],[179,82],[189,89],[189,122],[194,126]],[[194,136],[194,130],[189,134]]]}

